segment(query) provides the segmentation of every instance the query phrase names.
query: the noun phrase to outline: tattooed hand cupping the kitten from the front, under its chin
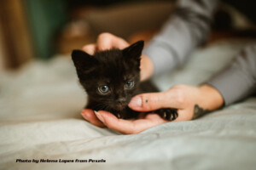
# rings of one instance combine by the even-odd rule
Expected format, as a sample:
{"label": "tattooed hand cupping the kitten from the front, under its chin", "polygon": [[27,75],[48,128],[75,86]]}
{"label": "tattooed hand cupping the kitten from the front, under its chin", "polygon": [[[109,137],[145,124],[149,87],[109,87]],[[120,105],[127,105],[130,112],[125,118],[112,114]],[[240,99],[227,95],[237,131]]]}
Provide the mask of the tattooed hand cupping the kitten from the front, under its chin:
{"label": "tattooed hand cupping the kitten from the front, under its chin", "polygon": [[[189,121],[214,111],[224,104],[215,88],[208,85],[192,87],[178,85],[166,92],[139,94],[131,99],[129,106],[135,111],[154,111],[160,108],[177,109],[177,121]],[[168,122],[157,114],[141,114],[137,120],[118,119],[107,111],[82,111],[84,119],[98,127],[109,127],[120,133],[140,133],[149,127]]]}

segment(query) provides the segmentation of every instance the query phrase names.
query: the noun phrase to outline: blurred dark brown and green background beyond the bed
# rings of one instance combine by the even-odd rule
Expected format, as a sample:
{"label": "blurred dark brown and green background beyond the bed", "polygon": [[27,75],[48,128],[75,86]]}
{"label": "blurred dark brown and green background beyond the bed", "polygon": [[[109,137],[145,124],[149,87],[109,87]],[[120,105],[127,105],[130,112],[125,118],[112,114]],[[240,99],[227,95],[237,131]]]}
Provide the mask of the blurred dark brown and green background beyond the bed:
{"label": "blurred dark brown and green background beyond the bed", "polygon": [[[252,0],[223,4],[215,29],[223,32],[255,23]],[[0,0],[0,71],[55,54],[68,56],[74,48],[95,42],[103,31],[129,42],[147,41],[172,14],[174,5],[174,0]]]}

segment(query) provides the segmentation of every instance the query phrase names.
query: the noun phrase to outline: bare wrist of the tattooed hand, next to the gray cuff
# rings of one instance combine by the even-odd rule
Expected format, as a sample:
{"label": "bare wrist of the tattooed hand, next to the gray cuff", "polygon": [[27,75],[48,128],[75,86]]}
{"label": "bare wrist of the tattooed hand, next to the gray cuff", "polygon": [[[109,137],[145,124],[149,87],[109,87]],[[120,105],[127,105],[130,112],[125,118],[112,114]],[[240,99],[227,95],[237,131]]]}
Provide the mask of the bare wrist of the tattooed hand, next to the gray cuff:
{"label": "bare wrist of the tattooed hand, next to the gray cuff", "polygon": [[201,106],[209,111],[214,111],[224,105],[224,99],[216,88],[203,84],[199,87],[201,92]]}

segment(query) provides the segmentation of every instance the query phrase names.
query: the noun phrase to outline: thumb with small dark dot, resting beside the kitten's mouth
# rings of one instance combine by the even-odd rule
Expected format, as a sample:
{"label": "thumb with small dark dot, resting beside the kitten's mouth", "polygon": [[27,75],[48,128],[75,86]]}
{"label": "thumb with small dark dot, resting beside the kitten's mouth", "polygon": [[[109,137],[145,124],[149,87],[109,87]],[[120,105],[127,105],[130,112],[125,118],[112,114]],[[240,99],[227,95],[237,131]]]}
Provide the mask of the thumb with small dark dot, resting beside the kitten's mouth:
{"label": "thumb with small dark dot, resting beside the kitten's mouth", "polygon": [[169,99],[166,92],[139,94],[131,99],[129,107],[134,111],[154,111],[170,107]]}

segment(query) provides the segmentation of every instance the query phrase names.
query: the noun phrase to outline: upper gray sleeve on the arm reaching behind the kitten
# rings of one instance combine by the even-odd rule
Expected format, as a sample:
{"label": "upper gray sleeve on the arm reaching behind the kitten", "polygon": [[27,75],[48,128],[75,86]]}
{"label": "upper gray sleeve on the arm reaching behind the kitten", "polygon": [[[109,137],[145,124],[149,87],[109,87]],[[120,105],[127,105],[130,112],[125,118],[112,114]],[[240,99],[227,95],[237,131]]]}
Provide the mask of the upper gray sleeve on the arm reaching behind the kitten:
{"label": "upper gray sleeve on the arm reaching behind the kitten", "polygon": [[183,64],[188,54],[205,42],[217,0],[180,0],[171,18],[143,54],[154,63],[154,75]]}

